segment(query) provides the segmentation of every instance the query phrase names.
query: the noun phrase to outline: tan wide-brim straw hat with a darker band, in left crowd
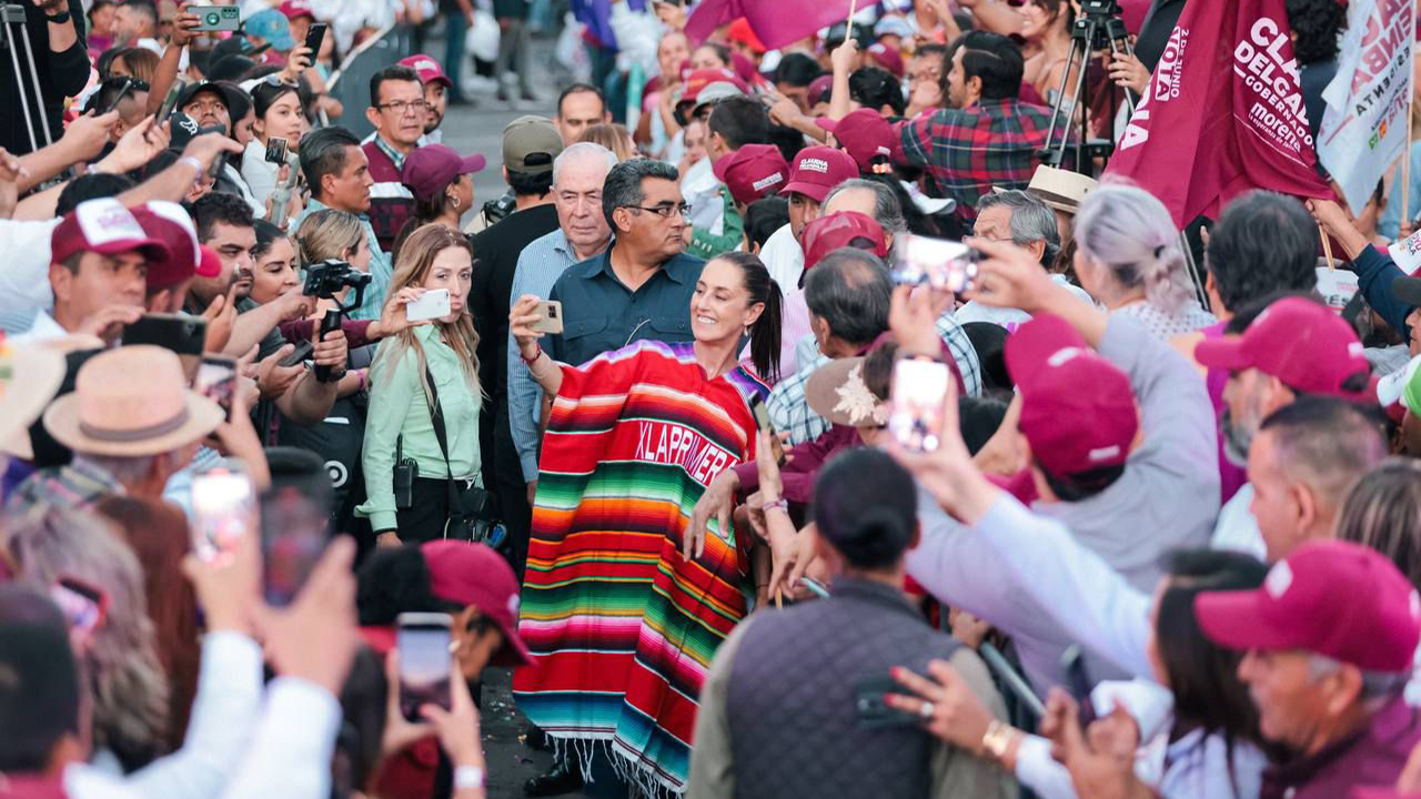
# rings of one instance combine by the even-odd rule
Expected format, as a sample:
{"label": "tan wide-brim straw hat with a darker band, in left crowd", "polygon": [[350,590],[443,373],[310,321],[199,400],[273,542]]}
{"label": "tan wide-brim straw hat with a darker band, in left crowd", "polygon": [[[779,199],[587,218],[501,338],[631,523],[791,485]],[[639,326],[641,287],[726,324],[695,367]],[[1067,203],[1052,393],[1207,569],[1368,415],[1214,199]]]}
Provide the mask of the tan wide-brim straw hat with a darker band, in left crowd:
{"label": "tan wide-brim straw hat with a darker band, in left crowd", "polygon": [[44,412],[44,428],[75,452],[139,458],[199,441],[225,418],[220,405],[188,388],[176,354],[129,345],[90,358],[74,392]]}

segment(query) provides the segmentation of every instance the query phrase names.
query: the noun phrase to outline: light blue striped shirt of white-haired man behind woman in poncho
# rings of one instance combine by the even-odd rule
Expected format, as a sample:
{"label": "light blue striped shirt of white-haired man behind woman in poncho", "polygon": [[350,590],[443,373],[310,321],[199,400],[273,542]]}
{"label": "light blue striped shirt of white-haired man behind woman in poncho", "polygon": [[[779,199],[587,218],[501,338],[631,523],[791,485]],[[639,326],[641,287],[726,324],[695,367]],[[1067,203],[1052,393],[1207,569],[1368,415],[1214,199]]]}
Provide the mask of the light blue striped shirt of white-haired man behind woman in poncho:
{"label": "light blue striped shirt of white-haired man behind woman in poncho", "polygon": [[[513,290],[509,291],[509,307],[519,301],[523,294],[537,294],[547,299],[553,291],[553,284],[563,276],[567,267],[578,263],[573,245],[561,227],[551,233],[534,239],[531,245],[523,247],[519,264],[513,272]],[[519,451],[519,463],[523,466],[523,481],[537,479],[537,445],[539,421],[543,409],[543,390],[527,364],[519,354],[519,344],[509,334],[509,428],[513,432],[513,446]]]}

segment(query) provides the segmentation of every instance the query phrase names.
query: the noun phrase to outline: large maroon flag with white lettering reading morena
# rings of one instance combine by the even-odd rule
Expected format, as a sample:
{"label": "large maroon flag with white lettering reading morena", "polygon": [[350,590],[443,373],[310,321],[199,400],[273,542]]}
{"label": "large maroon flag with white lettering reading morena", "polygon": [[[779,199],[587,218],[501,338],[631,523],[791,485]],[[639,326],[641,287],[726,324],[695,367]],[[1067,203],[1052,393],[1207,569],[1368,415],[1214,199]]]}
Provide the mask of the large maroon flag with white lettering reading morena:
{"label": "large maroon flag with white lettering reading morena", "polygon": [[1255,188],[1330,198],[1289,33],[1283,0],[1187,4],[1106,173],[1179,226]]}

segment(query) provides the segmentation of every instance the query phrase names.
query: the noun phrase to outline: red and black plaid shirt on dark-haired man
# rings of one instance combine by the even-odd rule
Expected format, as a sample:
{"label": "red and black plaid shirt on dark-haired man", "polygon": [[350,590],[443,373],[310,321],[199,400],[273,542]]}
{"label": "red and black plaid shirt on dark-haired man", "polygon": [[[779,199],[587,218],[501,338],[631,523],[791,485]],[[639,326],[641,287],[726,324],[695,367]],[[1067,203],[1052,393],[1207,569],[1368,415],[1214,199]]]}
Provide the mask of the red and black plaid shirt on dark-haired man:
{"label": "red and black plaid shirt on dark-haired man", "polygon": [[1019,100],[939,108],[899,122],[894,158],[926,168],[928,191],[958,200],[958,215],[971,220],[992,186],[1025,189],[1032,182],[1050,124],[1050,108]]}

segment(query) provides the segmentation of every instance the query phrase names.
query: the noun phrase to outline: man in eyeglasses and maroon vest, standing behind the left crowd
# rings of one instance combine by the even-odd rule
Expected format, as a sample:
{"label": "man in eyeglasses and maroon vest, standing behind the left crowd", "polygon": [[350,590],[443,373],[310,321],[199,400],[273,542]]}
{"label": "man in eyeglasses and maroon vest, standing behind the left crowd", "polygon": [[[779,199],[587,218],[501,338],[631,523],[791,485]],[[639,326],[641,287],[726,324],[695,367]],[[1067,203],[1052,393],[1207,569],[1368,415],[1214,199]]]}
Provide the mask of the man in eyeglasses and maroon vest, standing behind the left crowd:
{"label": "man in eyeglasses and maroon vest, standing behind the left crowd", "polygon": [[419,73],[395,64],[369,80],[369,108],[365,118],[375,132],[361,149],[369,161],[369,223],[375,227],[379,249],[391,252],[399,229],[415,210],[415,196],[401,182],[405,156],[419,146],[425,135],[429,104]]}

